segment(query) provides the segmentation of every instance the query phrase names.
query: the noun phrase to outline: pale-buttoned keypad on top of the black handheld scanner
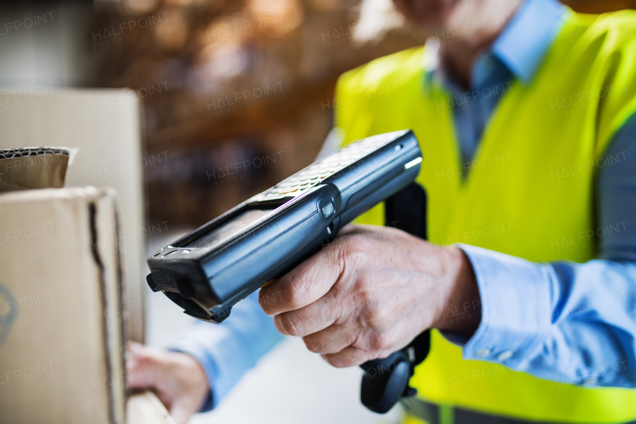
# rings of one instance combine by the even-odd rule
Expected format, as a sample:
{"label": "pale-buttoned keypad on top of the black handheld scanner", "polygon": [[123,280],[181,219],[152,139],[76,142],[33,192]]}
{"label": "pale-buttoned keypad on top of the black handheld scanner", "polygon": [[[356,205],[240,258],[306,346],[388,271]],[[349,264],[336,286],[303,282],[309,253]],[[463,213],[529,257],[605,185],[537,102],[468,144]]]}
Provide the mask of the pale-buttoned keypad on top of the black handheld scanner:
{"label": "pale-buttoned keypad on top of the black handheld scanner", "polygon": [[303,194],[329,176],[342,171],[345,167],[350,166],[357,160],[362,159],[394,139],[394,134],[389,133],[350,143],[340,150],[331,153],[331,155],[298,171],[298,173],[286,178],[286,180],[280,181],[280,183],[267,190],[264,195],[267,198],[274,198]]}

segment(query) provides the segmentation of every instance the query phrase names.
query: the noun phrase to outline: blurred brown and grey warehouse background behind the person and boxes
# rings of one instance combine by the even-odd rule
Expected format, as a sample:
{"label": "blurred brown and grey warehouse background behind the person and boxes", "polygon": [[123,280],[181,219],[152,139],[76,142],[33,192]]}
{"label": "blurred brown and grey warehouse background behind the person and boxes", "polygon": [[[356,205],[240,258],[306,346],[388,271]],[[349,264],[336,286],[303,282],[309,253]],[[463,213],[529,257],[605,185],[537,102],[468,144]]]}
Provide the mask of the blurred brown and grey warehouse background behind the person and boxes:
{"label": "blurred brown and grey warehouse background behind the person and boxes", "polygon": [[0,24],[3,87],[137,92],[147,219],[172,228],[200,225],[307,166],[347,107],[333,101],[338,75],[424,43],[389,0],[20,2],[1,8]]}

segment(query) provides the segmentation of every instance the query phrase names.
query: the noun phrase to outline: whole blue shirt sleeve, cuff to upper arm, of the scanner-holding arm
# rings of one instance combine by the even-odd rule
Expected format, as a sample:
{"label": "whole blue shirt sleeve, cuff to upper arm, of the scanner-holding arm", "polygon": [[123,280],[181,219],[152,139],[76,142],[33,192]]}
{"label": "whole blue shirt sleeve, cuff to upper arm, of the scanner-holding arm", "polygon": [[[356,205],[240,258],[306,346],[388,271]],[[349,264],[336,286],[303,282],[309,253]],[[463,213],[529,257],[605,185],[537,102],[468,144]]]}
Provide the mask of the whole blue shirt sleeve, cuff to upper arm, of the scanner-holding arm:
{"label": "whole blue shirt sleeve, cuff to upper arm, of the scanner-holding arm", "polygon": [[473,264],[482,308],[465,359],[569,384],[636,388],[636,117],[607,154],[619,161],[599,169],[598,227],[606,230],[598,259],[537,264],[459,245]]}

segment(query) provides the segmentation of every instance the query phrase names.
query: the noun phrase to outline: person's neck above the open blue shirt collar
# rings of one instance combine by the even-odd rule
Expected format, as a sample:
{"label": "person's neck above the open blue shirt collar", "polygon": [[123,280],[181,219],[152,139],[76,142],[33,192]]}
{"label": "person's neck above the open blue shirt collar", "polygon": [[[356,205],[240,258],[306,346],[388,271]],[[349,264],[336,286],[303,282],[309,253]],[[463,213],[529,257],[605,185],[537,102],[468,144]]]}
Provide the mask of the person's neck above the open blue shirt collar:
{"label": "person's neck above the open blue shirt collar", "polygon": [[[466,29],[464,23],[471,22],[462,38],[439,46],[442,66],[462,87],[469,88],[474,60],[483,49],[494,43],[522,1],[460,1],[450,13],[446,22],[448,28]],[[473,27],[473,22],[478,22],[476,27]],[[490,25],[481,22],[490,22]]]}

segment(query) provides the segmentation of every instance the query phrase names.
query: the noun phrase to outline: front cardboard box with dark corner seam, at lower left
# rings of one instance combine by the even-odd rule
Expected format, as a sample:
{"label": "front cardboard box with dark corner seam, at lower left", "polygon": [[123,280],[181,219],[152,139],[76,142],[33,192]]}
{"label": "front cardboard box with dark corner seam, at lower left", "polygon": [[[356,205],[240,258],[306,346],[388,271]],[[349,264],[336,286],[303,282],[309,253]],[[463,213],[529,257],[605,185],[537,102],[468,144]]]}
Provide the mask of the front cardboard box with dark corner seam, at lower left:
{"label": "front cardboard box with dark corner seam, at lower left", "polygon": [[0,423],[123,424],[114,190],[0,194]]}

